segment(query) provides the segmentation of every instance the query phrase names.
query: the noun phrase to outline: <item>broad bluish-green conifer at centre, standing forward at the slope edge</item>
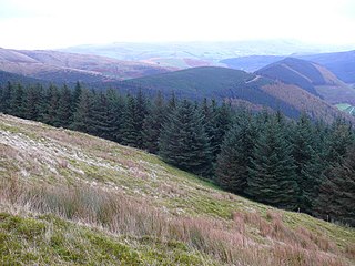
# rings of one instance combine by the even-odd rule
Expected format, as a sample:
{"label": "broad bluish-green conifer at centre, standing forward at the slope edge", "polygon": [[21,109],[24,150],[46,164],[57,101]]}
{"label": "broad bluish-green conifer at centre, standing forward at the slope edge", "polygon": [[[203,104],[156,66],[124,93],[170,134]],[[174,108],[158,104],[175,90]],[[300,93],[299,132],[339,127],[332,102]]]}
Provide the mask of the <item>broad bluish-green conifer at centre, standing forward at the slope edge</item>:
{"label": "broad bluish-green conifer at centre, standing forward at the slope edge", "polygon": [[203,116],[189,101],[169,114],[159,141],[161,157],[197,175],[211,175],[211,147]]}

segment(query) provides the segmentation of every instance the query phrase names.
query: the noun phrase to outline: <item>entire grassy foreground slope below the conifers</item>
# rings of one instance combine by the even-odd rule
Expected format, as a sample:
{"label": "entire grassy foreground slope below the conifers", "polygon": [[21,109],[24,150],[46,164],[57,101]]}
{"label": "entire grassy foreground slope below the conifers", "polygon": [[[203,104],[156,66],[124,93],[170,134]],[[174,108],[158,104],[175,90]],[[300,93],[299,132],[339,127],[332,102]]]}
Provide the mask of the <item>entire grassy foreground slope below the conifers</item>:
{"label": "entire grassy foreground slope below the conifers", "polygon": [[0,177],[0,264],[355,263],[352,228],[222,192],[142,151],[7,115]]}

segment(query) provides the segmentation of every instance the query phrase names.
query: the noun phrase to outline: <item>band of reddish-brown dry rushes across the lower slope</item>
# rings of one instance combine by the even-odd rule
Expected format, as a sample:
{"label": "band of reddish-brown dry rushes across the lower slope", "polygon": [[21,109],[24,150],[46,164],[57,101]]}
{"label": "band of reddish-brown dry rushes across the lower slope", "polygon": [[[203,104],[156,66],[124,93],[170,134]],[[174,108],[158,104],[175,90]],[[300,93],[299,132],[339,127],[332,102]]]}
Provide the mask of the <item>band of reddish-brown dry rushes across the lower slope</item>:
{"label": "band of reddish-brown dry rushes across the lower slope", "polygon": [[[0,200],[18,212],[51,213],[113,234],[180,241],[221,264],[346,265],[328,239],[306,229],[290,229],[276,212],[267,212],[265,218],[237,212],[232,221],[174,216],[115,191],[85,184],[32,186],[16,176],[1,180]],[[250,228],[256,228],[267,242],[258,243]],[[353,248],[346,252],[348,257]]]}

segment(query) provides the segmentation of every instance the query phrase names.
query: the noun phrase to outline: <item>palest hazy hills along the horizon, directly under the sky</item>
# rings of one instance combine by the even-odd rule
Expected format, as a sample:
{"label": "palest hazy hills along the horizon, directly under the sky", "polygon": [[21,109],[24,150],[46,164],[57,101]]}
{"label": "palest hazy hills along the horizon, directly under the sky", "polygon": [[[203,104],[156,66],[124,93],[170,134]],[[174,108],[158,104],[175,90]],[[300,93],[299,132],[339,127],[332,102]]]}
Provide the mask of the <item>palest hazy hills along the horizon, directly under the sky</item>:
{"label": "palest hazy hills along the horizon, directly under the sky", "polygon": [[[252,40],[225,42],[161,42],[78,45],[60,51],[133,60],[172,68],[222,66],[220,61],[255,54],[282,55],[344,51],[348,47],[318,47],[295,40]],[[280,60],[280,59],[278,59]],[[197,64],[196,64],[197,62]],[[267,62],[266,64],[268,64]],[[266,65],[264,64],[264,65]],[[261,65],[260,68],[264,66]],[[260,69],[258,68],[258,69]],[[241,70],[247,70],[241,68]],[[253,71],[255,71],[254,69]]]}

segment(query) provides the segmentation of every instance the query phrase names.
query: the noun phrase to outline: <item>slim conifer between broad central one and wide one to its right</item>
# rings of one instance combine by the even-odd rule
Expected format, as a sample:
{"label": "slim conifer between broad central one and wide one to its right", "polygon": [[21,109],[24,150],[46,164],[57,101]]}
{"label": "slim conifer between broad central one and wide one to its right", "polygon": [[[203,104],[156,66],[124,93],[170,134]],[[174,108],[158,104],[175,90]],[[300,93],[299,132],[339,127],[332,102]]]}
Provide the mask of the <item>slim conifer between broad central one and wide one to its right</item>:
{"label": "slim conifer between broad central one and wide one to its right", "polygon": [[257,137],[253,117],[246,112],[226,133],[217,157],[216,178],[222,188],[244,193],[247,185],[248,167]]}

